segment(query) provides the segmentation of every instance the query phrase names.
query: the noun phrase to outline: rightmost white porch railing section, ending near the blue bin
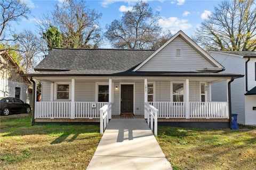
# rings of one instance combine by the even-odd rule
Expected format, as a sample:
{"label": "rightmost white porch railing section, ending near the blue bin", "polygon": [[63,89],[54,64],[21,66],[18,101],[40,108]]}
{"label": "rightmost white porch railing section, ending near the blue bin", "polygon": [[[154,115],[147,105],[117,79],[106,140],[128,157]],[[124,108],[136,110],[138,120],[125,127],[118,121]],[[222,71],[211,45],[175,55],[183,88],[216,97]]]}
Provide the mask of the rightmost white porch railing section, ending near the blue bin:
{"label": "rightmost white porch railing section, ending near the blue bin", "polygon": [[191,118],[228,118],[228,102],[189,102]]}

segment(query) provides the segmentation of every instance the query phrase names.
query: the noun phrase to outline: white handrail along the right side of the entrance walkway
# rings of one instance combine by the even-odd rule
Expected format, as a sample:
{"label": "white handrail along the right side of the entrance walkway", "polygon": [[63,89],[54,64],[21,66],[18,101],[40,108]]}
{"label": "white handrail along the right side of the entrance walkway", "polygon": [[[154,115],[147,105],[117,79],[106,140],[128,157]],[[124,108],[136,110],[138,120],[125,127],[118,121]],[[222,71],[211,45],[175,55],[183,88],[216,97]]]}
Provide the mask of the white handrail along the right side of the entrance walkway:
{"label": "white handrail along the right side of the entrance walkway", "polygon": [[[151,131],[154,132],[154,135],[157,136],[157,117],[158,117],[158,109],[156,109],[151,104],[145,102],[145,111],[148,118],[148,125]],[[153,126],[154,123],[154,126]]]}

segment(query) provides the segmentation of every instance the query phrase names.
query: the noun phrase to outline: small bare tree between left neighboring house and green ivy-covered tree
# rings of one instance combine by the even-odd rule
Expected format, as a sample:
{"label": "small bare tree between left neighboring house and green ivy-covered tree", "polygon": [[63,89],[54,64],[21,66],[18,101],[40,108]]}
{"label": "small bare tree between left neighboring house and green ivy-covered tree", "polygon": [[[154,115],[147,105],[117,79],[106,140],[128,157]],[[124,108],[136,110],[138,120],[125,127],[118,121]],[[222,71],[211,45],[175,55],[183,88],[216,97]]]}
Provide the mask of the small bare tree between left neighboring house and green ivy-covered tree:
{"label": "small bare tree between left neighboring house and green ivy-covered tree", "polygon": [[20,50],[21,67],[25,73],[31,71],[37,64],[40,56],[42,39],[38,38],[32,31],[23,30],[17,39],[17,45]]}

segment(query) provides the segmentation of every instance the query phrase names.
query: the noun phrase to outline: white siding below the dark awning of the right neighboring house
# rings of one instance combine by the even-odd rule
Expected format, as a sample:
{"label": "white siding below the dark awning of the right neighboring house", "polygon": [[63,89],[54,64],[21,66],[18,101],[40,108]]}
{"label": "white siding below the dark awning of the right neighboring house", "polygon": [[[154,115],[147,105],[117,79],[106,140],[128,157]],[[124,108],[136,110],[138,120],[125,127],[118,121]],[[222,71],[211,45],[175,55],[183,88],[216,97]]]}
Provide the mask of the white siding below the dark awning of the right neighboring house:
{"label": "white siding below the dark awning of the right neighboring house", "polygon": [[252,107],[256,107],[256,96],[245,96],[245,124],[256,125],[256,110],[252,110]]}

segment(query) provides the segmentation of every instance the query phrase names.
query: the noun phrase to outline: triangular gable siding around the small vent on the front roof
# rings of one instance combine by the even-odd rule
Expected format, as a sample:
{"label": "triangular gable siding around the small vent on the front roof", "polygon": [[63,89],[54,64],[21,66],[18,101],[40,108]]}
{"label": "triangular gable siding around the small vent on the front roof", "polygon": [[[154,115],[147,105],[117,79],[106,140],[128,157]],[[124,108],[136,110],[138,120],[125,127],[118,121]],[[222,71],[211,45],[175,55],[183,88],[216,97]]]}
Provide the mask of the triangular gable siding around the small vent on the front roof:
{"label": "triangular gable siding around the small vent on the front roof", "polygon": [[[181,49],[181,56],[176,50]],[[214,67],[180,37],[175,38],[138,71],[197,71]]]}

